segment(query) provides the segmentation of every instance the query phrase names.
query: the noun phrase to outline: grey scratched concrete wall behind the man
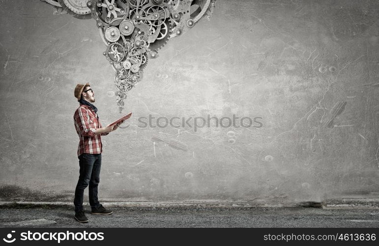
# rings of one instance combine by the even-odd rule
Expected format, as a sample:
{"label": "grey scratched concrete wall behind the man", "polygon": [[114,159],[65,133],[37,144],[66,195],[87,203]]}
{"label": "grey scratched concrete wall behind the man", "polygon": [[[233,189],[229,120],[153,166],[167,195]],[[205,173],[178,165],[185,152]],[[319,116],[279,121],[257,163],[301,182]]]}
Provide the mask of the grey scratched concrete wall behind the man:
{"label": "grey scratched concrete wall behind the man", "polygon": [[[75,85],[91,83],[103,124],[120,116],[106,47],[92,19],[53,15],[40,0],[0,6],[0,184],[73,193]],[[377,0],[219,0],[210,21],[149,61],[126,101],[130,125],[103,138],[100,196],[378,191],[378,9]],[[149,114],[263,125],[140,127]]]}

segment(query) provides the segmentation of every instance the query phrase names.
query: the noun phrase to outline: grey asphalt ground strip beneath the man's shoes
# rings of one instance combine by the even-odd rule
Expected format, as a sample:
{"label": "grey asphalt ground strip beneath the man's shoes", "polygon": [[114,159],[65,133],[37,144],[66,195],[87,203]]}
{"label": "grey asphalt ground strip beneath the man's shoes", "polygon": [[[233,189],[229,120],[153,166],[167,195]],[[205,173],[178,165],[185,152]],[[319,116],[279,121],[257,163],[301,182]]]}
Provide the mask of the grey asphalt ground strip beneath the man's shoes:
{"label": "grey asphalt ground strip beneath the man's shoes", "polygon": [[110,207],[112,215],[74,219],[71,206],[1,206],[0,227],[379,227],[378,208]]}

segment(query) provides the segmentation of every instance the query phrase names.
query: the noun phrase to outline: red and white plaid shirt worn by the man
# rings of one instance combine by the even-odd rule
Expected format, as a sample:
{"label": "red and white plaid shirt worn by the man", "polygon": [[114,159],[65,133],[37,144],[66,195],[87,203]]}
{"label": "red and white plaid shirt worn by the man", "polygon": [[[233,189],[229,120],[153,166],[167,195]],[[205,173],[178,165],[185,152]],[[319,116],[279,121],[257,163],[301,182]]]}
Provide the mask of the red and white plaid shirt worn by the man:
{"label": "red and white plaid shirt worn by the man", "polygon": [[101,123],[95,111],[87,105],[81,104],[74,114],[76,133],[79,136],[78,156],[87,154],[101,154],[103,145],[100,135],[95,135],[96,129],[101,128]]}

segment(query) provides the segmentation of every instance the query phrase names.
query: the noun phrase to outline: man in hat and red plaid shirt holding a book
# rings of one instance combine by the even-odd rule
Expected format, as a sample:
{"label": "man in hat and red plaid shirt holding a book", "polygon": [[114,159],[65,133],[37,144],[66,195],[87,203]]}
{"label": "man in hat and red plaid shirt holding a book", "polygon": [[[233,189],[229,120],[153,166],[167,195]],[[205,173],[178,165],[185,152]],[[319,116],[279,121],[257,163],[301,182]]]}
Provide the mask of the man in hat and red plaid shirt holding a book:
{"label": "man in hat and red plaid shirt holding a book", "polygon": [[105,209],[98,201],[97,186],[100,182],[101,153],[103,146],[101,136],[117,129],[118,125],[102,127],[95,102],[95,92],[90,85],[78,84],[74,91],[80,106],[75,111],[74,123],[79,136],[78,158],[80,166],[79,181],[75,189],[75,219],[79,222],[88,222],[83,210],[83,194],[89,185],[88,195],[93,215],[110,215],[113,211]]}

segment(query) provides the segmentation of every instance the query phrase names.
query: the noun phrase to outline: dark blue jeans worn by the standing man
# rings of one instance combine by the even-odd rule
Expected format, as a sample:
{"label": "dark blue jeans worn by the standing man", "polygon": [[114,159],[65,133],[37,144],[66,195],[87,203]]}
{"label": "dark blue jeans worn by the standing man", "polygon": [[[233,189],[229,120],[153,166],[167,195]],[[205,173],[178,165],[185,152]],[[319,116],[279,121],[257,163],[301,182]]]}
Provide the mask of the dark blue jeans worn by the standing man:
{"label": "dark blue jeans worn by the standing man", "polygon": [[97,186],[100,182],[101,154],[81,154],[79,155],[80,175],[75,189],[75,212],[83,211],[84,190],[88,188],[89,205],[92,209],[100,206],[97,197]]}

